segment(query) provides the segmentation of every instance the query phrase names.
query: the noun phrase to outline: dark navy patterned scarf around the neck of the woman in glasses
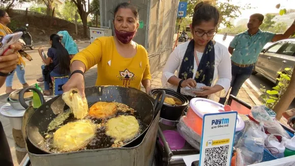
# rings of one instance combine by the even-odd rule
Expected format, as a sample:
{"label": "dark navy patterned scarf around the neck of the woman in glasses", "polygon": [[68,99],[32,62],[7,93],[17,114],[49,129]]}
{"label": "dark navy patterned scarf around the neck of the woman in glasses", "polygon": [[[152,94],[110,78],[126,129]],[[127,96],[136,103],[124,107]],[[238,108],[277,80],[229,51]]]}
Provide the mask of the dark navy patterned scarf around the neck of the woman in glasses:
{"label": "dark navy patterned scarf around the neck of the woman in glasses", "polygon": [[[185,52],[179,75],[178,77],[181,79],[188,79],[193,78],[194,74],[194,47],[195,42],[191,40]],[[214,51],[214,43],[211,40],[205,47],[203,56],[199,63],[196,76],[193,78],[196,80],[197,83],[202,83],[208,87],[211,86],[214,76],[214,69],[215,69],[215,51]],[[179,86],[177,92],[180,93],[181,87]]]}

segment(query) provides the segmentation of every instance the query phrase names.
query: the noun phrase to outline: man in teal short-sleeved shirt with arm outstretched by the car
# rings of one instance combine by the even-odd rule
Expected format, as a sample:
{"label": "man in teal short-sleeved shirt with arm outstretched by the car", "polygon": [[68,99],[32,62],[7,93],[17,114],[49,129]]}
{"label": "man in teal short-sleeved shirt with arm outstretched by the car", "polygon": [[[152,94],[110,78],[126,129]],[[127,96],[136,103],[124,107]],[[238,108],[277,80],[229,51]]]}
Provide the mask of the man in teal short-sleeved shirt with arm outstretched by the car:
{"label": "man in teal short-sleeved shirt with arm outstretched by the car", "polygon": [[[229,44],[228,51],[231,54],[231,91],[230,94],[237,96],[244,82],[252,74],[259,53],[268,42],[276,42],[287,39],[295,31],[295,20],[284,34],[274,34],[261,31],[264,16],[256,13],[250,16],[247,24],[248,30],[235,35]],[[226,97],[220,98],[219,103],[224,104]]]}

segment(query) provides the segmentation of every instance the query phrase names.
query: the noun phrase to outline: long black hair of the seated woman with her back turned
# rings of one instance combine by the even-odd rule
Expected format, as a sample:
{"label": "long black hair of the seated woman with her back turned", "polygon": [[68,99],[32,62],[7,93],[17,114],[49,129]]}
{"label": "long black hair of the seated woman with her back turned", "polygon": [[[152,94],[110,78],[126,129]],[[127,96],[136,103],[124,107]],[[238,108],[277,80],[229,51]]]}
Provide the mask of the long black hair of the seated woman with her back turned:
{"label": "long black hair of the seated woman with her back turned", "polygon": [[60,67],[61,74],[70,73],[70,55],[67,49],[60,42],[60,36],[52,34],[49,38],[50,41],[52,41],[51,48],[56,49],[57,61]]}

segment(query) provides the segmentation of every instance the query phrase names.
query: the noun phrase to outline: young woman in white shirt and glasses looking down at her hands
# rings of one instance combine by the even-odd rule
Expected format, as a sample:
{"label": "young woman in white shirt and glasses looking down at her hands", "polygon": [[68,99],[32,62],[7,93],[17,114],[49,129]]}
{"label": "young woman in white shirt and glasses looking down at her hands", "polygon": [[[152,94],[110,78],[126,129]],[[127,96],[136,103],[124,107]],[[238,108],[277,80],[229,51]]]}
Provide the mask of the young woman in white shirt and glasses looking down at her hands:
{"label": "young woman in white shirt and glasses looking down at her hands", "polygon": [[[191,32],[193,40],[176,47],[163,69],[162,85],[186,95],[214,100],[223,97],[230,88],[231,62],[227,48],[213,41],[217,32],[219,11],[212,5],[199,3],[194,9]],[[177,71],[177,76],[174,75]],[[189,89],[204,84],[203,91]]]}

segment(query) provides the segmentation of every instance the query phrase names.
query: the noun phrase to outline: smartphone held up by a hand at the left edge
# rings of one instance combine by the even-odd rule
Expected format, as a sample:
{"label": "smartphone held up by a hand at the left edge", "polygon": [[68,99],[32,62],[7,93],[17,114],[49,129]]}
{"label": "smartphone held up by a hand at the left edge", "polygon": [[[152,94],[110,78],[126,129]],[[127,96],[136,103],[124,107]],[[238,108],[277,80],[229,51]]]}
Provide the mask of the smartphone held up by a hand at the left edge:
{"label": "smartphone held up by a hand at the left edge", "polygon": [[8,34],[0,39],[0,56],[9,48],[11,44],[18,42],[22,32],[16,32],[13,34]]}

